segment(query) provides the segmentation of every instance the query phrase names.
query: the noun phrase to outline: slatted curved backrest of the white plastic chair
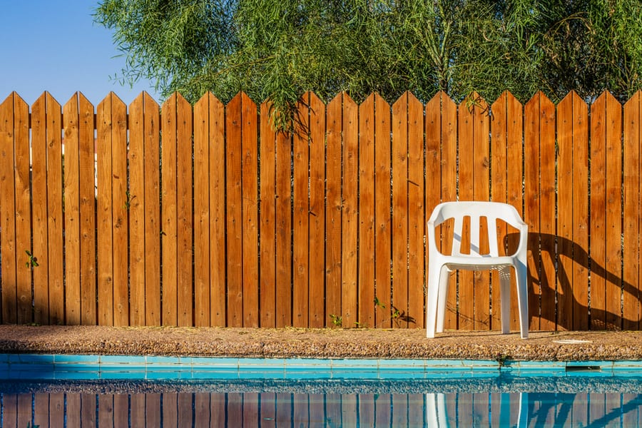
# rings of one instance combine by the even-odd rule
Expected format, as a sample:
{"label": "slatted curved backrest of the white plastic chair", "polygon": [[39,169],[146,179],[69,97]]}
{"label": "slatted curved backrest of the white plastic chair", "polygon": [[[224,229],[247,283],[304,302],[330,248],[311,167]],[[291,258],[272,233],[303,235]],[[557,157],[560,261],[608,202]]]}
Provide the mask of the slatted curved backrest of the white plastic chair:
{"label": "slatted curved backrest of the white plastic chair", "polygon": [[[469,255],[486,256],[481,254],[480,223],[481,218],[486,218],[489,256],[499,256],[497,242],[497,220],[503,220],[514,228],[521,228],[523,224],[517,210],[509,204],[498,202],[457,201],[444,202],[437,205],[428,222],[429,229],[437,227],[446,220],[454,219],[452,255],[462,255],[462,238],[464,235],[464,218],[470,218],[470,248]],[[434,233],[429,230],[429,233]]]}

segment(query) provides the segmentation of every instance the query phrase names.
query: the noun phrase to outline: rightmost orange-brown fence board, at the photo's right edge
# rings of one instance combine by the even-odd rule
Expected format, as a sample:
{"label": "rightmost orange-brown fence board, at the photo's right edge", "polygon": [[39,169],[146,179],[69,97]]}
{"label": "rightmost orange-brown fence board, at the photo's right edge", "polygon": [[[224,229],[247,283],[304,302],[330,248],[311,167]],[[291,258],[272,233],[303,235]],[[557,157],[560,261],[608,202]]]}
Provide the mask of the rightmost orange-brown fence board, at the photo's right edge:
{"label": "rightmost orange-brown fence board, at the photo's right edge", "polygon": [[624,105],[623,121],[623,326],[637,330],[640,321],[640,148],[642,142],[642,92]]}

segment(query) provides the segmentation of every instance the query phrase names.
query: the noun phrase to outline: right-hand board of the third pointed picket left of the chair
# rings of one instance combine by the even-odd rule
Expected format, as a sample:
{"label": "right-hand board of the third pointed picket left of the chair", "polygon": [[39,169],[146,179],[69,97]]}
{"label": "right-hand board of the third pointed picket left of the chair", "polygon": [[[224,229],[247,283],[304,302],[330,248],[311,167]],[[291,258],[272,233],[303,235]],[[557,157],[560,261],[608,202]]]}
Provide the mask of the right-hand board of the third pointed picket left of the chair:
{"label": "right-hand board of the third pointed picket left of the chair", "polygon": [[343,189],[341,241],[341,316],[344,327],[354,327],[357,313],[359,230],[359,108],[355,101],[343,94]]}

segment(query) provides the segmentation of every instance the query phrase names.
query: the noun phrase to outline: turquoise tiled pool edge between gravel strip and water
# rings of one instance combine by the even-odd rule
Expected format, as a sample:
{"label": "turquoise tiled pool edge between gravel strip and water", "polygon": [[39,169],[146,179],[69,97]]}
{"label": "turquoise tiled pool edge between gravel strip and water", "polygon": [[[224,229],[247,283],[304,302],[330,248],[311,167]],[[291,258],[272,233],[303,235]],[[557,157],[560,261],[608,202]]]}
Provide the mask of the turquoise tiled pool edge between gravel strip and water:
{"label": "turquoise tiled pool edge between gravel strip and water", "polygon": [[432,379],[642,377],[640,360],[320,359],[0,354],[0,379]]}

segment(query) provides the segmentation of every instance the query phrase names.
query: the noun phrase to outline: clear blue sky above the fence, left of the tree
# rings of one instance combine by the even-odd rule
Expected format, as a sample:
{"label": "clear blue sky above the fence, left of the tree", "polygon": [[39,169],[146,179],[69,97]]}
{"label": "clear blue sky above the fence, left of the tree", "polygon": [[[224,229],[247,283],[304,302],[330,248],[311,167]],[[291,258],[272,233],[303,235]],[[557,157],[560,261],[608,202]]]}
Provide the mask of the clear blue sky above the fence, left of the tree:
{"label": "clear blue sky above the fence, left of the tree", "polygon": [[148,81],[116,80],[125,59],[112,33],[93,24],[98,0],[0,0],[0,102],[11,91],[31,104],[49,91],[64,104],[81,91],[96,106],[113,91],[131,103],[141,91],[161,100]]}

